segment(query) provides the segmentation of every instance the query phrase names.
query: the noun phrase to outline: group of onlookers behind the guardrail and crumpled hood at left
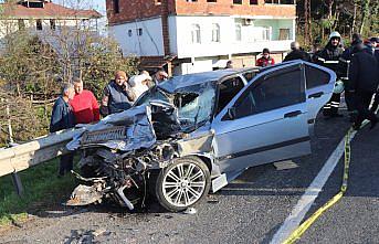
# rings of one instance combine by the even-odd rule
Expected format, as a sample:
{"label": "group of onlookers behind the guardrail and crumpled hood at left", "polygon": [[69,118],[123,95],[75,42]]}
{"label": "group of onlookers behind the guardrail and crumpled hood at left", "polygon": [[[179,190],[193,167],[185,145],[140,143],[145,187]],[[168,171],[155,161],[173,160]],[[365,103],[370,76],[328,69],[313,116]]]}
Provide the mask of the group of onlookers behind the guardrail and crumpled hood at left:
{"label": "group of onlookers behind the guardrail and crumpled hood at left", "polygon": [[[117,71],[115,78],[104,87],[101,105],[91,91],[84,89],[83,81],[74,77],[72,83],[63,85],[61,96],[54,103],[50,132],[73,128],[77,124],[95,123],[101,115],[105,117],[126,110],[144,92],[167,77],[165,70],[158,70],[154,77],[143,71],[130,78],[124,71]],[[61,157],[59,177],[73,169],[73,153]]]}

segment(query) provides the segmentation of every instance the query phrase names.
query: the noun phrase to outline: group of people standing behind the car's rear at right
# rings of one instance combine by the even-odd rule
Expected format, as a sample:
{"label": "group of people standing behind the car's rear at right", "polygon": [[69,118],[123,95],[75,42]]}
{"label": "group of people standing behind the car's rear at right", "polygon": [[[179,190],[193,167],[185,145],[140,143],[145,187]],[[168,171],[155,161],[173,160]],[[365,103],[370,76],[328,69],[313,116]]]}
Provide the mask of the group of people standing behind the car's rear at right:
{"label": "group of people standing behind the car's rear at right", "polygon": [[[369,119],[373,128],[378,121],[375,112],[379,104],[379,40],[370,38],[366,43],[357,33],[352,34],[351,45],[344,49],[341,35],[331,32],[324,49],[307,53],[301,49],[298,42],[291,43],[291,52],[283,62],[303,60],[314,62],[333,70],[337,79],[345,86],[345,100],[349,110],[352,127],[359,129],[365,119]],[[264,49],[262,57],[256,60],[256,66],[270,66],[275,63],[270,56],[269,49]],[[340,82],[339,82],[340,83]],[[375,96],[373,104],[369,108]],[[340,91],[331,95],[325,104],[323,115],[327,118],[341,117],[338,113]]]}

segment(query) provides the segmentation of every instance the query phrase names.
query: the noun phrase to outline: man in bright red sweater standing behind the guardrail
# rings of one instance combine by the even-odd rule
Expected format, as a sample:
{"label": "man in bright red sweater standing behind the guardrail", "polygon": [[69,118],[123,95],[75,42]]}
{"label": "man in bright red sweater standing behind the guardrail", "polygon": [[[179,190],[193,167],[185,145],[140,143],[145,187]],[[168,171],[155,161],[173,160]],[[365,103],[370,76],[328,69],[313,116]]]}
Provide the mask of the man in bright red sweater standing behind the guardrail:
{"label": "man in bright red sweater standing behind the guardrail", "polygon": [[70,102],[73,108],[76,124],[90,124],[98,121],[99,109],[96,97],[87,89],[83,89],[83,81],[75,77],[73,79],[75,96]]}

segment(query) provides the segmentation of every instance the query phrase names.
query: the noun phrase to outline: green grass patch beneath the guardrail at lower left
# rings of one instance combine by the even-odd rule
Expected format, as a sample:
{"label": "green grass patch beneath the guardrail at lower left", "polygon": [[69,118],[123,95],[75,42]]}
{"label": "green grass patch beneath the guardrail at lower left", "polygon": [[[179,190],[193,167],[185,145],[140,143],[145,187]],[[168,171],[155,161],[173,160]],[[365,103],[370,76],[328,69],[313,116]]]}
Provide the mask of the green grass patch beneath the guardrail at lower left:
{"label": "green grass patch beneath the guardrail at lower left", "polygon": [[0,178],[0,226],[28,219],[28,212],[41,205],[60,203],[70,195],[77,181],[72,174],[57,178],[59,159],[19,172],[23,195],[19,197],[11,176]]}

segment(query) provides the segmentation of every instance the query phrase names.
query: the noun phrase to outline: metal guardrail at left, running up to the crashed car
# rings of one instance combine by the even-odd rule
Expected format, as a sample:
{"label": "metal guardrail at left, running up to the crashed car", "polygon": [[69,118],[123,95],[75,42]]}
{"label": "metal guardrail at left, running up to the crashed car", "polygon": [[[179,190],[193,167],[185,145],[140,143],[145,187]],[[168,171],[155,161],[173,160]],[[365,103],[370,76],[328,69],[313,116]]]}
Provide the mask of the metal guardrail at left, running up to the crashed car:
{"label": "metal guardrail at left, running up to the crashed car", "polygon": [[32,166],[66,153],[65,145],[84,128],[62,130],[30,142],[0,149],[0,177],[25,170]]}

